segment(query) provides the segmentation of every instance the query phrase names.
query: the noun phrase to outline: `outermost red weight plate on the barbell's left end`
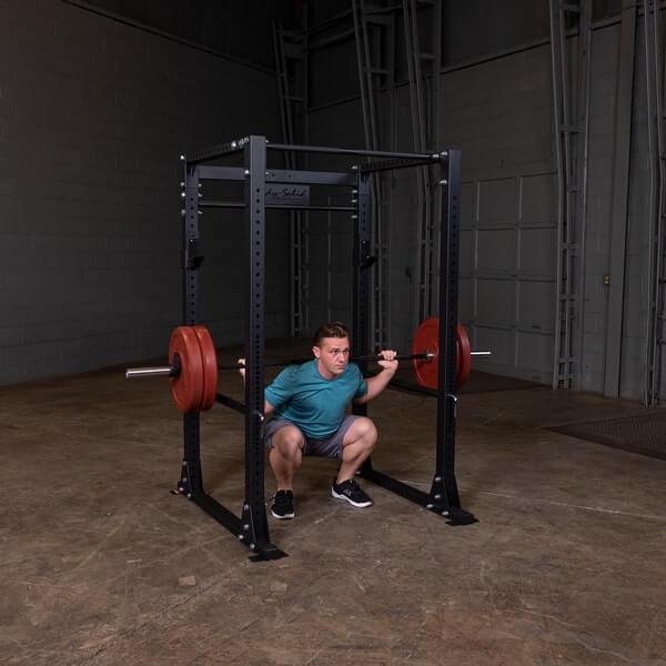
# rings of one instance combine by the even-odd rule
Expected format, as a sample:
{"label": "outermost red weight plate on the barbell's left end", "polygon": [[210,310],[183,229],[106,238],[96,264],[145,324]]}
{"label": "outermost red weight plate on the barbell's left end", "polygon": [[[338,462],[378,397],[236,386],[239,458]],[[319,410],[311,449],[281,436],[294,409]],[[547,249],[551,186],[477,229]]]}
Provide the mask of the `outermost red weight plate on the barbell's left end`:
{"label": "outermost red weight plate on the barbell's left end", "polygon": [[203,395],[203,363],[196,333],[190,326],[179,326],[169,341],[169,363],[180,356],[180,374],[171,380],[171,394],[180,412],[199,412]]}

